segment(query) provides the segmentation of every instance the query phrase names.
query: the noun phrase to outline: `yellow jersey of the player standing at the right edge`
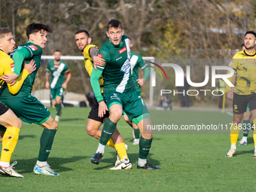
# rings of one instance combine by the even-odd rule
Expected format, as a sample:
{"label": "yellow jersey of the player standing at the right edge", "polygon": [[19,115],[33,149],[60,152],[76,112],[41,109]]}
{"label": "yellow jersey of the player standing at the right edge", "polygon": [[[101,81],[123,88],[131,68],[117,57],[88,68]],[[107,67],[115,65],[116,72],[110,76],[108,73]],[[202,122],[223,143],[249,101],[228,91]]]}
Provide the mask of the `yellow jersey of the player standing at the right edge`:
{"label": "yellow jersey of the player standing at the right edge", "polygon": [[256,51],[253,55],[246,53],[245,50],[239,51],[228,66],[236,70],[235,93],[239,95],[256,93]]}

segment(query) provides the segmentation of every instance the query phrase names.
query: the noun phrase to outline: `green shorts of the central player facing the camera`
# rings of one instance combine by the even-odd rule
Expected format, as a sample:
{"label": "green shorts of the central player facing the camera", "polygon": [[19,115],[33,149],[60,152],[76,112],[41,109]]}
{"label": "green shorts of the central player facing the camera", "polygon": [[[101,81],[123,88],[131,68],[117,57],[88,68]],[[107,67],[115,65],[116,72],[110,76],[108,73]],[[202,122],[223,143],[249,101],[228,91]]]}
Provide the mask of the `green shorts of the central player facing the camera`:
{"label": "green shorts of the central player facing the camera", "polygon": [[150,117],[148,114],[148,108],[137,91],[130,94],[108,91],[105,93],[105,102],[108,108],[115,104],[121,105],[123,107],[123,114],[127,114],[131,121],[133,121],[133,118],[139,117],[143,114],[147,115],[144,115],[142,119]]}

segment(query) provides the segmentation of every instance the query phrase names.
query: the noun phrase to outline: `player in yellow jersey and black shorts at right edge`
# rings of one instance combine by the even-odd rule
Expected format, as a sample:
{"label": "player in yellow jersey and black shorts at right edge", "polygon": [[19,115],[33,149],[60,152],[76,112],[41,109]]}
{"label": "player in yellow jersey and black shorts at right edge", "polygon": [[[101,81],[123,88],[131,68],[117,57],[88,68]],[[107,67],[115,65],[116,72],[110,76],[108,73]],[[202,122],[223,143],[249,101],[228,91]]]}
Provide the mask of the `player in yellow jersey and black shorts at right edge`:
{"label": "player in yellow jersey and black shorts at right edge", "polygon": [[[246,111],[247,105],[251,111],[253,123],[256,123],[256,33],[249,31],[245,33],[245,50],[239,51],[233,56],[229,66],[236,72],[235,92],[227,85],[227,98],[233,99],[233,124],[230,128],[230,151],[226,157],[236,155],[236,142],[239,130],[245,129],[242,124],[242,116]],[[230,78],[231,81],[232,77]],[[256,159],[256,130],[254,129],[254,156]]]}

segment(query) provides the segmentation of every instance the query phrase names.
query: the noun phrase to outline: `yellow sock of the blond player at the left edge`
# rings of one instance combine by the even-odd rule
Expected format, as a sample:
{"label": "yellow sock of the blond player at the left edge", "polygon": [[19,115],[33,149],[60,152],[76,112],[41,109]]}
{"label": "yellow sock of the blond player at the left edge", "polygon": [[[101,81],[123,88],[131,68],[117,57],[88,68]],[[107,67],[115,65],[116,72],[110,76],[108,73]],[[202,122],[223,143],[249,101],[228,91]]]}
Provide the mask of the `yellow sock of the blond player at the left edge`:
{"label": "yellow sock of the blond player at the left edge", "polygon": [[6,129],[2,140],[2,154],[0,161],[10,162],[11,154],[13,154],[19,138],[19,133],[20,129],[15,126]]}

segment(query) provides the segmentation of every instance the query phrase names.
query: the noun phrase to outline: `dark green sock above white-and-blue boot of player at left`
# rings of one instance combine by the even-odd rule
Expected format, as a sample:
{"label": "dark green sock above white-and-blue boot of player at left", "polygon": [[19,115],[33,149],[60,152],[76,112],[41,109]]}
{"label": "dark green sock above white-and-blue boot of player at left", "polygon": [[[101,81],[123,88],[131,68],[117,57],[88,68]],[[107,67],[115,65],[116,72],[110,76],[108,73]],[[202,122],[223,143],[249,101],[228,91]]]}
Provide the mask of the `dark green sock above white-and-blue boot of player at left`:
{"label": "dark green sock above white-and-blue boot of player at left", "polygon": [[55,136],[56,130],[44,129],[41,133],[40,139],[40,150],[38,154],[39,161],[47,161],[47,158],[50,154],[50,149],[53,145],[53,139]]}

